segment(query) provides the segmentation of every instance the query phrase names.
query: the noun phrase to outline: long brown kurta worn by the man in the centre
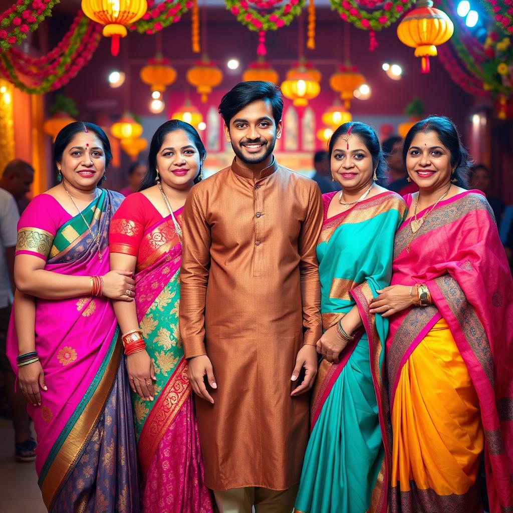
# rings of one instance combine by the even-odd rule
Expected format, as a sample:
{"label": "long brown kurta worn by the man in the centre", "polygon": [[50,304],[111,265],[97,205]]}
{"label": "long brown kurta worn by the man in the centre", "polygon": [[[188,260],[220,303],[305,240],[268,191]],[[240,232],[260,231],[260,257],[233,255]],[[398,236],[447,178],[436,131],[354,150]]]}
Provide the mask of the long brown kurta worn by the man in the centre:
{"label": "long brown kurta worn by the man in the centre", "polygon": [[185,356],[207,354],[218,385],[215,404],[196,398],[205,484],[289,488],[309,429],[290,377],[322,334],[319,187],[275,161],[259,177],[233,161],[193,187],[183,223]]}

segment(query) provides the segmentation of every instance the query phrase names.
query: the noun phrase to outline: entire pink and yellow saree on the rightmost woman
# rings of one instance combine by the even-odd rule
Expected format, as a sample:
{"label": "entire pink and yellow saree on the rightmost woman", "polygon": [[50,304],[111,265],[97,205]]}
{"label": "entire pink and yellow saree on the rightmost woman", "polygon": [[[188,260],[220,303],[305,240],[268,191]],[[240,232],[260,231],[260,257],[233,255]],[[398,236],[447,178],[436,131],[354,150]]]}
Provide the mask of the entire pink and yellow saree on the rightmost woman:
{"label": "entire pink and yellow saree on the rightmost woman", "polygon": [[390,318],[391,511],[482,511],[483,445],[490,513],[513,511],[512,281],[485,196],[441,201],[413,239],[406,220],[391,283],[432,298]]}

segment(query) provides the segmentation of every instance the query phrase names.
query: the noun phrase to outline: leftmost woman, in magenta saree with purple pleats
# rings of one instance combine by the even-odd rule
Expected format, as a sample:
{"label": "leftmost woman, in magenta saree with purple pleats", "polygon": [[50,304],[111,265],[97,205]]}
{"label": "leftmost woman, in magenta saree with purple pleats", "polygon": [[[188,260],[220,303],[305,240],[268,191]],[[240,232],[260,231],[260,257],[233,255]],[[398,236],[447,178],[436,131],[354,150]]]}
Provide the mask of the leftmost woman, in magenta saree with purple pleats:
{"label": "leftmost woman, in magenta saree with purple pleats", "polygon": [[134,513],[135,436],[109,299],[133,302],[130,274],[109,271],[108,226],[123,198],[97,188],[111,160],[100,127],[63,128],[54,160],[60,183],[18,224],[8,357],[29,400],[48,511]]}

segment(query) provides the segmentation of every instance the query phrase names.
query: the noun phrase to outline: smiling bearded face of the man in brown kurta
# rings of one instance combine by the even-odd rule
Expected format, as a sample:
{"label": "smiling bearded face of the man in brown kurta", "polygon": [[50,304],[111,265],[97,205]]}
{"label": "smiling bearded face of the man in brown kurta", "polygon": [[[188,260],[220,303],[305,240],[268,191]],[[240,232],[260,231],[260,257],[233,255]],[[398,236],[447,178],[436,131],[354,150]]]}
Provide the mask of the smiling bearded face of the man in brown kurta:
{"label": "smiling bearded face of the man in brown kurta", "polygon": [[257,100],[237,112],[224,129],[238,159],[246,164],[260,164],[274,150],[282,133],[282,122],[274,122],[268,100]]}

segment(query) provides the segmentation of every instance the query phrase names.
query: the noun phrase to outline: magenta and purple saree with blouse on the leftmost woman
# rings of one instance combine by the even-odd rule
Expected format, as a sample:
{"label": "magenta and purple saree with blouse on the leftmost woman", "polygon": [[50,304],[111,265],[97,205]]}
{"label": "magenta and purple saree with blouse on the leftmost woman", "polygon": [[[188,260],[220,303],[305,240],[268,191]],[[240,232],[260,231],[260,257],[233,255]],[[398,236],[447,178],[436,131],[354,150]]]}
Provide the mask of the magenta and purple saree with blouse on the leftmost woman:
{"label": "magenta and purple saree with blouse on the leftmost woman", "polygon": [[[83,216],[71,217],[50,195],[36,196],[18,224],[16,254],[72,276],[109,271],[108,227],[121,196],[100,190]],[[90,226],[90,230],[88,228]],[[93,239],[99,235],[102,259]],[[52,513],[139,511],[135,437],[128,381],[109,299],[35,299],[35,349],[47,391],[28,405],[37,435],[36,471]],[[16,308],[16,304],[13,305]],[[14,315],[7,354],[14,371]]]}

